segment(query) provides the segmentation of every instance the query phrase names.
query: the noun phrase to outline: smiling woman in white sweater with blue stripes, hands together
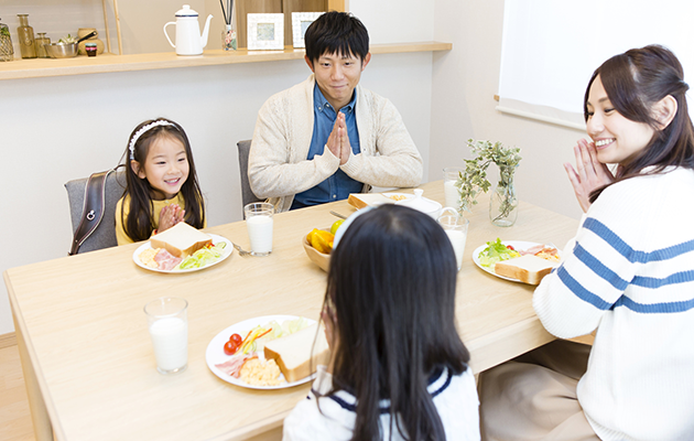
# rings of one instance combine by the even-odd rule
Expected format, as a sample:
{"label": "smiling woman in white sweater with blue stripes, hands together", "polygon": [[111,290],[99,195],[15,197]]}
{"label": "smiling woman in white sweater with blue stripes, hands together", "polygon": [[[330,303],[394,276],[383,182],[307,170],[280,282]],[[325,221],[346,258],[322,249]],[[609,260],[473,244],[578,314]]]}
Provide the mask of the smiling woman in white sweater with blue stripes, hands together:
{"label": "smiling woman in white sweater with blue stripes, hands together", "polygon": [[[487,440],[694,439],[694,128],[669,50],[627,51],[595,71],[590,142],[566,165],[586,212],[533,295],[561,338],[481,379]],[[617,164],[612,173],[606,164]]]}

